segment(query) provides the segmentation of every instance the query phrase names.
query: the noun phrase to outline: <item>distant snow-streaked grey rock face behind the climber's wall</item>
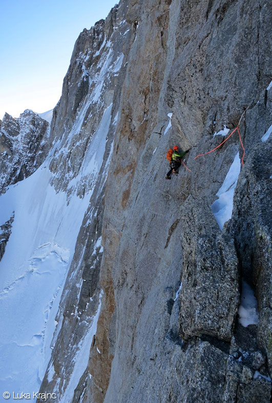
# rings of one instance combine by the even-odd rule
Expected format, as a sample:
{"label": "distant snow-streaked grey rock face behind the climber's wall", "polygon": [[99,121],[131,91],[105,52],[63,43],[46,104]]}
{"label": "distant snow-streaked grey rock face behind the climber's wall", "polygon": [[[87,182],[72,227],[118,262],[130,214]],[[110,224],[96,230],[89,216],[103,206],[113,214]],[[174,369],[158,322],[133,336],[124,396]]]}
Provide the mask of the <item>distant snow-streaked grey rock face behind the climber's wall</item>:
{"label": "distant snow-streaked grey rock face behind the climber's wall", "polygon": [[[74,193],[80,198],[91,194],[56,317],[51,361],[40,389],[54,391],[59,401],[79,401],[90,389],[87,357],[95,344],[92,334],[102,295],[108,295],[99,284],[101,231],[122,63],[132,33],[124,19],[126,8],[126,4],[114,7],[105,21],[79,35],[51,122],[51,184],[57,192],[66,192],[68,203]],[[87,358],[84,368],[83,357]]]}

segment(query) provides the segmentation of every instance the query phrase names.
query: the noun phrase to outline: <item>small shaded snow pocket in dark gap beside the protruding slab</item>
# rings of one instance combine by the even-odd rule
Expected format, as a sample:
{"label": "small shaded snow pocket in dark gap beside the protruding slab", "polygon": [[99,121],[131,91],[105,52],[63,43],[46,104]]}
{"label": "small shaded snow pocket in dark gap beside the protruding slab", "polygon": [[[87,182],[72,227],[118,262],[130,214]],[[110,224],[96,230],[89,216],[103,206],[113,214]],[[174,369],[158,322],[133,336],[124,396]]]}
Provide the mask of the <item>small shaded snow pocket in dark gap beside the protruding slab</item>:
{"label": "small shaded snow pocket in dark gap beside the protruding slab", "polygon": [[250,288],[244,280],[242,283],[241,304],[238,309],[238,314],[239,323],[245,328],[248,325],[258,325],[259,323],[257,299],[255,298],[253,289]]}

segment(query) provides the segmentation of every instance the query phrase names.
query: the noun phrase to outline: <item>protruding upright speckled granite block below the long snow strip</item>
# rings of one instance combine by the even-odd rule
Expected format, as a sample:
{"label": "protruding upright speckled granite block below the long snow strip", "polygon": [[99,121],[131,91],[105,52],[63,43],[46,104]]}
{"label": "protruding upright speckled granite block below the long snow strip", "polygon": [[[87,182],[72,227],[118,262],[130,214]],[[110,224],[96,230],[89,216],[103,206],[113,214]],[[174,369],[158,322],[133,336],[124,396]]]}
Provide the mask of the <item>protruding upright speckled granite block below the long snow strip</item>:
{"label": "protruding upright speckled granite block below the long snow strip", "polygon": [[189,197],[182,212],[181,335],[230,340],[239,303],[234,240],[221,233],[205,201]]}

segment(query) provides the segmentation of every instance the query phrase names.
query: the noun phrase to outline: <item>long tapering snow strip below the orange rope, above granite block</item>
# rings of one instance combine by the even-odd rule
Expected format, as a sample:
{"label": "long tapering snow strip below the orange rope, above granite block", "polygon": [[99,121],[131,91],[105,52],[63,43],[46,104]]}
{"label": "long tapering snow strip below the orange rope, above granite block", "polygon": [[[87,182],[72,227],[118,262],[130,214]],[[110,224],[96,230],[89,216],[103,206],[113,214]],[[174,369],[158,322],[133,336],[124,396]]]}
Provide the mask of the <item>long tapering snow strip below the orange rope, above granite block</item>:
{"label": "long tapering snow strip below the orange rope, above granite block", "polygon": [[226,221],[232,218],[234,190],[237,185],[240,170],[241,164],[238,152],[234,158],[231,168],[229,168],[229,171],[226,174],[223,185],[216,193],[218,199],[215,200],[211,206],[220,230],[223,229]]}

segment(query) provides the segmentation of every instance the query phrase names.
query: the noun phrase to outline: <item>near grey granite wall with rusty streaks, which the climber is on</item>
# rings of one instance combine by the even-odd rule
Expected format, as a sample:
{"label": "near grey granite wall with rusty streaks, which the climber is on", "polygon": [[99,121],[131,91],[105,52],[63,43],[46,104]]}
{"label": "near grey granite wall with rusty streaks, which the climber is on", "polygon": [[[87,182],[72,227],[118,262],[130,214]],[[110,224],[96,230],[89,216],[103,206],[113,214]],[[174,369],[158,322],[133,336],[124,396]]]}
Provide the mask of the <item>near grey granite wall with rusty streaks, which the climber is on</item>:
{"label": "near grey granite wall with rusty streaks, which the climber is on", "polygon": [[[265,225],[250,225],[264,221],[258,211],[266,211],[271,199],[269,160],[263,157],[258,168],[259,180],[267,183],[248,178],[249,191],[243,178],[256,170],[257,155],[269,155],[261,137],[271,125],[271,90],[265,90],[271,81],[271,12],[265,1],[129,6],[135,39],[102,229],[100,284],[110,291],[98,320],[100,353],[92,350],[89,364],[89,401],[270,399],[269,214]],[[240,124],[245,165],[233,218],[221,232],[210,206],[235,155],[242,156],[239,137],[194,157],[220,144],[222,137],[213,134],[224,125],[235,128],[247,107]],[[172,128],[165,133],[170,112]],[[165,183],[165,152],[176,143],[190,149],[186,164],[192,172],[181,168]],[[239,230],[244,223],[250,235],[246,227]],[[248,280],[243,248],[248,257],[254,251],[250,284],[257,286],[258,327],[238,322],[241,280]],[[111,371],[109,386],[105,371]]]}

